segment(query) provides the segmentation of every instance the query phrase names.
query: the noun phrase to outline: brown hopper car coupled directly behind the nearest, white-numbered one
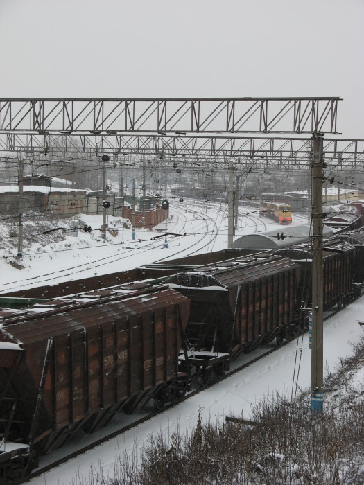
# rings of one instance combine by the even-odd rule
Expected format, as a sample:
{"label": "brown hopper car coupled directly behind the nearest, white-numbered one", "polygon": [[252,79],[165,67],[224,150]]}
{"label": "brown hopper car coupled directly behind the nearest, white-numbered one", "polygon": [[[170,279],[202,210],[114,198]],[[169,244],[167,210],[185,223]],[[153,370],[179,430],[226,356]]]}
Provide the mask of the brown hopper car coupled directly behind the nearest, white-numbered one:
{"label": "brown hopper car coupled directly behind the nearest, white-numbered one", "polygon": [[191,300],[185,335],[200,384],[223,372],[241,351],[248,353],[275,338],[281,342],[297,329],[299,276],[300,267],[294,261],[257,254],[175,274],[164,281]]}

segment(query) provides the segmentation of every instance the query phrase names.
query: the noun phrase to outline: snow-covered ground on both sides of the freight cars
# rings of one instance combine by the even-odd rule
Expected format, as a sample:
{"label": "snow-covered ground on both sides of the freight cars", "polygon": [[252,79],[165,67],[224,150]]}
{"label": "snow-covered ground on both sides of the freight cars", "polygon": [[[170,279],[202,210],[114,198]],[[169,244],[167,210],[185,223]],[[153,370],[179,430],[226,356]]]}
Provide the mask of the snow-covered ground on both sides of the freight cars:
{"label": "snow-covered ground on both sides of the freight cars", "polygon": [[[246,209],[245,213],[251,212]],[[281,226],[263,219],[254,225],[252,219],[244,217],[239,211],[239,224],[236,238],[243,234],[264,229],[279,229]],[[117,227],[117,234],[107,233],[107,240],[100,238],[98,230],[92,233],[79,231],[78,237],[66,236],[49,245],[34,243],[27,245],[24,258],[20,261],[23,269],[10,265],[16,254],[16,245],[4,246],[3,258],[0,259],[1,286],[6,292],[31,285],[58,283],[69,279],[79,279],[94,274],[106,274],[127,270],[130,267],[143,265],[162,258],[184,256],[191,252],[211,252],[227,247],[227,213],[225,208],[211,204],[180,204],[171,207],[171,220],[168,232],[186,233],[186,236],[168,238],[168,247],[164,238],[151,240],[164,231],[165,224],[160,224],[155,231],[137,231],[135,240],[130,229],[123,229],[121,220],[109,218],[109,226]],[[257,214],[256,214],[257,215]],[[101,216],[80,215],[80,226],[90,225],[93,229],[101,226]],[[297,216],[293,224],[306,222],[306,218]],[[66,222],[63,222],[66,224]],[[266,225],[265,225],[266,224]],[[158,231],[158,229],[160,229]],[[5,231],[5,229],[4,229]],[[1,234],[0,234],[1,235]],[[340,315],[331,317],[324,324],[324,364],[327,371],[333,371],[340,358],[349,355],[352,343],[358,342],[363,335],[363,328],[358,324],[364,319],[364,296],[345,308]],[[302,349],[302,352],[300,351]],[[295,365],[300,360],[300,372]],[[251,406],[266,394],[278,391],[291,396],[299,389],[309,387],[311,378],[311,350],[308,348],[307,336],[298,342],[291,342],[278,352],[263,358],[252,367],[236,373],[186,402],[166,410],[157,418],[139,425],[137,429],[112,439],[104,446],[87,452],[85,455],[69,461],[44,476],[33,479],[33,485],[69,484],[76,477],[86,479],[91,468],[103,466],[106,476],[114,475],[114,459],[121,452],[131,456],[140,450],[151,433],[171,434],[173,430],[189,429],[196,423],[201,410],[205,419],[224,420],[229,414],[250,416]]]}

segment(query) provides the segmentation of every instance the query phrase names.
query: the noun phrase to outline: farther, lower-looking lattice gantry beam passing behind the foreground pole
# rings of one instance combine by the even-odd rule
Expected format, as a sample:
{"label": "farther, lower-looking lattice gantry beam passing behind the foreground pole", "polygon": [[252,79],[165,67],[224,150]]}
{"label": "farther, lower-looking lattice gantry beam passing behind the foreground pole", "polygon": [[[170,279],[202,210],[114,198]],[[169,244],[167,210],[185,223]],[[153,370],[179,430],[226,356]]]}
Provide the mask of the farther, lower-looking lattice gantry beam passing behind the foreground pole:
{"label": "farther, lower-looking lattice gantry beam passing behind the foreground pole", "polygon": [[[364,165],[364,140],[324,139],[327,163],[335,166]],[[237,136],[156,135],[0,135],[0,150],[64,155],[109,153],[114,157],[182,157],[196,160],[268,159],[284,166],[307,166],[311,138],[258,138]]]}

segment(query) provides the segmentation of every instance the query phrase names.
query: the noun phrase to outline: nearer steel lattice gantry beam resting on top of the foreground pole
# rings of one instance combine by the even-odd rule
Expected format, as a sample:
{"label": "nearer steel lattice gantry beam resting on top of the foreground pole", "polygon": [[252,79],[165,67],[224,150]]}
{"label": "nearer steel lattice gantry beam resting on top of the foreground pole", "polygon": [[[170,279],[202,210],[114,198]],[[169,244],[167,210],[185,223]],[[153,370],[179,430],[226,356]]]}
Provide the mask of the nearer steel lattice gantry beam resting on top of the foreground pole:
{"label": "nearer steel lattice gantry beam resting on top of the foreground pole", "polygon": [[0,99],[0,132],[336,134],[340,98]]}

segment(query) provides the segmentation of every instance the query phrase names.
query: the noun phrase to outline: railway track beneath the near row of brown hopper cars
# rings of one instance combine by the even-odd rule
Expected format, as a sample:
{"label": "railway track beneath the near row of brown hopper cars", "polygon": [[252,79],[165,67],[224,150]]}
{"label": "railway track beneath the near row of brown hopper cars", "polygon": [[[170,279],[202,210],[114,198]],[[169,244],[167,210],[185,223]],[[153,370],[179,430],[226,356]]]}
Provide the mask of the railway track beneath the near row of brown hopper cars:
{"label": "railway track beneath the near row of brown hopper cars", "polygon": [[[358,297],[353,299],[352,302],[356,301],[356,299],[358,299],[360,296],[361,295],[359,295]],[[350,302],[350,303],[352,303],[352,302]],[[334,315],[337,315],[340,311],[343,310],[343,308],[346,308],[346,306],[341,307],[341,308],[337,308],[336,310],[330,312],[329,315],[324,317],[324,320],[327,320],[327,319],[333,317]],[[179,406],[184,401],[189,400],[190,398],[192,398],[193,396],[196,396],[197,394],[204,391],[205,389],[207,389],[209,387],[213,387],[214,385],[217,385],[219,382],[222,382],[223,380],[233,376],[234,374],[239,373],[239,372],[243,371],[244,369],[247,369],[248,367],[256,364],[257,362],[259,362],[263,358],[268,357],[268,355],[271,355],[272,353],[279,351],[279,349],[281,349],[282,347],[288,345],[289,343],[293,342],[295,339],[300,338],[300,337],[302,337],[302,335],[298,335],[298,336],[293,337],[290,340],[286,340],[281,345],[276,346],[272,349],[269,349],[268,351],[262,353],[261,355],[258,355],[257,357],[252,358],[251,360],[249,360],[249,362],[245,362],[243,364],[238,365],[238,367],[236,367],[235,369],[227,372],[225,374],[225,376],[220,376],[219,378],[214,379],[214,381],[209,382],[209,384],[207,384],[205,387],[194,389],[193,391],[189,392],[186,396],[184,396],[184,398],[177,400],[175,403],[171,403],[170,405],[166,405],[161,410],[158,410],[158,411],[155,411],[155,412],[152,412],[152,413],[148,413],[148,415],[143,416],[143,417],[133,421],[132,423],[130,423],[128,425],[125,425],[123,427],[118,427],[118,429],[112,430],[112,432],[108,433],[107,435],[102,436],[101,438],[95,439],[94,441],[92,441],[92,443],[87,443],[86,446],[83,446],[82,448],[79,448],[76,451],[69,452],[64,456],[62,456],[58,459],[55,459],[54,461],[52,461],[49,464],[45,464],[44,466],[42,466],[42,464],[41,464],[37,469],[33,470],[31,475],[28,475],[27,477],[24,478],[24,480],[21,480],[19,482],[19,484],[26,483],[26,482],[28,482],[28,480],[31,480],[35,477],[40,477],[40,475],[42,475],[43,473],[49,472],[53,468],[56,468],[56,467],[58,467],[62,464],[65,464],[65,463],[67,463],[67,461],[70,461],[73,458],[76,458],[76,457],[79,457],[80,455],[83,455],[83,453],[85,453],[89,450],[92,450],[92,449],[96,448],[97,446],[103,445],[103,443],[106,443],[110,439],[113,439],[116,436],[119,436],[120,434],[127,432],[128,430],[132,430],[134,427],[137,427],[138,425],[141,425],[142,423],[146,423],[150,419],[154,418],[155,416],[158,416],[159,414],[162,414],[166,410]],[[61,450],[58,450],[58,454],[59,454],[60,451]],[[42,463],[42,458],[41,458],[40,461]]]}

